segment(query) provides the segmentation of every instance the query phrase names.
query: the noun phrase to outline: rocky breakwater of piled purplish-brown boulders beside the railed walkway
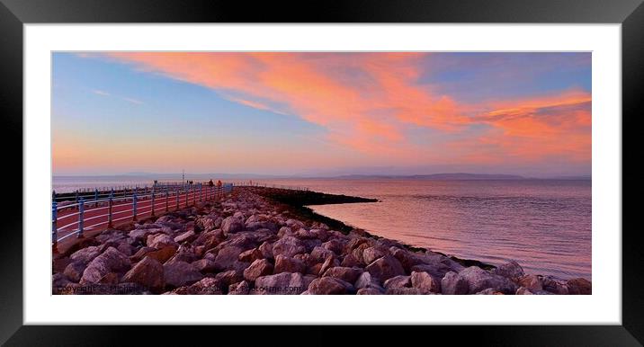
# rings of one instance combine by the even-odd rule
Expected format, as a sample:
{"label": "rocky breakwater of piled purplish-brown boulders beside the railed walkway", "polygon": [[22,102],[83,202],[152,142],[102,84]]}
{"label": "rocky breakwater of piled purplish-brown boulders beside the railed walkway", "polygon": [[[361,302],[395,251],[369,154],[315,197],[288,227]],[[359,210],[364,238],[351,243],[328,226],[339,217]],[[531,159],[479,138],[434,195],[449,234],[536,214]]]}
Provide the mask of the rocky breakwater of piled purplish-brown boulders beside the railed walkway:
{"label": "rocky breakwater of piled purplish-brown boulders beside the railed walkway", "polygon": [[337,231],[258,189],[237,188],[217,202],[85,240],[80,249],[55,259],[53,293],[591,292],[587,280],[525,274],[517,262],[485,270],[358,229]]}

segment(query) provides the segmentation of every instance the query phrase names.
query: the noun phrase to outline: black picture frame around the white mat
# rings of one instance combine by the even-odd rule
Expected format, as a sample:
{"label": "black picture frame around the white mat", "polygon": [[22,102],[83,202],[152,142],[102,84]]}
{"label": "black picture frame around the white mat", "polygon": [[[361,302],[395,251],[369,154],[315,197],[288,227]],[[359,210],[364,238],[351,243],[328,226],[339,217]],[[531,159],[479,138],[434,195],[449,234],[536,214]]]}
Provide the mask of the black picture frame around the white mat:
{"label": "black picture frame around the white mat", "polygon": [[[116,345],[130,342],[127,336],[144,336],[146,343],[181,343],[221,336],[243,337],[244,343],[326,344],[380,342],[389,330],[356,333],[353,326],[327,332],[319,327],[301,327],[298,333],[309,340],[288,340],[271,336],[294,334],[287,326],[245,326],[186,328],[188,331],[160,331],[148,326],[36,326],[23,325],[22,316],[22,185],[15,184],[22,172],[22,44],[25,23],[78,22],[509,22],[509,23],[621,23],[622,24],[622,325],[546,326],[419,326],[415,330],[391,333],[407,343],[438,343],[437,338],[457,343],[492,345],[607,345],[630,346],[644,343],[644,281],[640,248],[642,236],[635,224],[638,204],[627,204],[640,193],[641,179],[634,165],[640,129],[644,91],[644,5],[643,0],[361,0],[361,1],[159,1],[159,0],[0,0],[0,110],[3,117],[5,170],[11,182],[4,184],[5,208],[0,242],[0,342],[7,345]],[[620,115],[611,115],[619,117]],[[20,168],[20,169],[19,169]],[[29,207],[25,208],[38,208]],[[627,215],[630,216],[627,218]],[[38,232],[38,231],[29,231]],[[47,233],[48,231],[42,231]],[[619,233],[620,230],[603,232]],[[136,307],[132,307],[136,310]],[[216,309],[212,307],[213,314]],[[587,307],[591,310],[593,307]],[[123,313],[127,316],[127,312]],[[252,313],[251,313],[252,314]],[[306,313],[301,313],[306,314]],[[509,318],[511,320],[511,317]],[[82,321],[82,317],[79,317]],[[154,331],[153,331],[154,330]],[[158,339],[160,341],[154,342]],[[414,341],[412,341],[414,339]],[[418,340],[418,342],[416,342]],[[240,340],[242,341],[242,340]],[[326,343],[325,343],[326,342]]]}

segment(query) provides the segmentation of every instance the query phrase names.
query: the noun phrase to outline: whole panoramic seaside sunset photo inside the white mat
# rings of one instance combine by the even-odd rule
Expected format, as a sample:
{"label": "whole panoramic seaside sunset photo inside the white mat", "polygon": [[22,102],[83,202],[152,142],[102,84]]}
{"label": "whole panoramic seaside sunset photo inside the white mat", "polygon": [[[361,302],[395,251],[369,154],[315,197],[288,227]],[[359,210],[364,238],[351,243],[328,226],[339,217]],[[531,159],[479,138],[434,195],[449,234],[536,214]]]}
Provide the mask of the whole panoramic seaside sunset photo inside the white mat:
{"label": "whole panoramic seaside sunset photo inside the white mat", "polygon": [[52,295],[593,294],[591,51],[50,59]]}

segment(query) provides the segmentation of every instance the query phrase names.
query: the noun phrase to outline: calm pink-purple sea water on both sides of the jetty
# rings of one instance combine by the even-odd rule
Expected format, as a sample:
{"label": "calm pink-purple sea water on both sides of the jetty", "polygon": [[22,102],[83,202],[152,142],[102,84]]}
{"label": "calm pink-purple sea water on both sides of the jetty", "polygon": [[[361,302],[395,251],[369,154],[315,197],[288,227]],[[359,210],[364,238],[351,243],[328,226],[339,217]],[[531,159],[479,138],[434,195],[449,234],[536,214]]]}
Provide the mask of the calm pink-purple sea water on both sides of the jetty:
{"label": "calm pink-purple sea water on both sides of the jetty", "polygon": [[[54,177],[56,191],[150,185],[146,177]],[[181,178],[178,179],[180,181]],[[514,259],[530,273],[591,280],[591,181],[257,180],[381,200],[316,212],[461,258]]]}

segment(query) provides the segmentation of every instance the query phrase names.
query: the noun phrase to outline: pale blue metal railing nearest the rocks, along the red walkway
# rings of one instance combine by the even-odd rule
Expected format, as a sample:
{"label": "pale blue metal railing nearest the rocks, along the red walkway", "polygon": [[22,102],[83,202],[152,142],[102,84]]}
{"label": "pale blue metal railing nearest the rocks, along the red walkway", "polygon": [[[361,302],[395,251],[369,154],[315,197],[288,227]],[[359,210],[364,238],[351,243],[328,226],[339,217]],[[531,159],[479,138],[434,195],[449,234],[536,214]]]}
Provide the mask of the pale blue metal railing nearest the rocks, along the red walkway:
{"label": "pale blue metal railing nearest the rocks, along the red walkway", "polygon": [[57,196],[54,191],[51,203],[51,243],[56,246],[67,237],[82,237],[85,230],[110,228],[137,221],[138,218],[156,217],[170,210],[194,206],[197,202],[216,199],[232,189],[233,183],[223,183],[221,186],[160,183],[150,189],[112,189],[108,193],[94,189],[92,195],[74,194],[71,200],[63,201],[58,200],[66,197]]}

